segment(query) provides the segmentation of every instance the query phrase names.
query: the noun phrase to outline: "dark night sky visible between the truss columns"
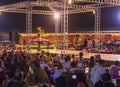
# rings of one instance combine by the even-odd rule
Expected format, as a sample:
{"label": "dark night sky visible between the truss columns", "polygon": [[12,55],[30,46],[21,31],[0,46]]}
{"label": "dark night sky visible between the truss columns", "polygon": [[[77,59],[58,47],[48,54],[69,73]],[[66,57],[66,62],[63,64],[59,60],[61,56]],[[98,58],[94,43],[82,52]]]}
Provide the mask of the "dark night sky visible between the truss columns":
{"label": "dark night sky visible between the truss columns", "polygon": [[[0,0],[0,5],[25,0]],[[45,32],[54,32],[54,17],[46,15],[33,15],[33,32],[41,26]],[[18,13],[2,13],[0,15],[0,31],[25,32],[26,15]],[[120,7],[104,8],[101,12],[101,30],[119,31]],[[69,15],[69,31],[94,31],[94,15],[92,12]]]}

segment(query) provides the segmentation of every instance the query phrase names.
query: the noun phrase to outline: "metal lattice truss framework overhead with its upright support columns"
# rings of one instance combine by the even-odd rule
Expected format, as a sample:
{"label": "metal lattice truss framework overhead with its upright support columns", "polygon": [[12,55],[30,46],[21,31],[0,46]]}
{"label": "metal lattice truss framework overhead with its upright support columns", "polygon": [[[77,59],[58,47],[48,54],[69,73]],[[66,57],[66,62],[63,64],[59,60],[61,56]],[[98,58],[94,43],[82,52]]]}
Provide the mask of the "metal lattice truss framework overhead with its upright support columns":
{"label": "metal lattice truss framework overhead with its upright support columns", "polygon": [[[71,4],[69,4],[71,2]],[[36,0],[24,1],[0,6],[1,12],[25,13],[26,33],[32,32],[32,14],[61,15],[61,32],[64,49],[68,43],[68,14],[95,11],[95,32],[100,32],[101,8],[120,6],[120,0]],[[59,9],[59,11],[58,11]],[[98,37],[97,37],[98,38]]]}

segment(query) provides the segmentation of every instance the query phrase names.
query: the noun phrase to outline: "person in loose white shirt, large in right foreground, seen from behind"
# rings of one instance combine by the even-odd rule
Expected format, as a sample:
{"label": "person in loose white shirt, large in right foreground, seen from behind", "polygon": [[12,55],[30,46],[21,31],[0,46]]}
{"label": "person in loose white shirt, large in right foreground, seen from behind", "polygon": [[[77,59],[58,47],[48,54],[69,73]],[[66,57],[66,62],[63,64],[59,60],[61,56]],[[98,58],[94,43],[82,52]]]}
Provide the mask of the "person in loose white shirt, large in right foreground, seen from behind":
{"label": "person in loose white shirt, large in right foreground, seen from behind", "polygon": [[98,65],[95,65],[90,73],[91,81],[93,82],[93,85],[99,80],[102,79],[102,75],[106,73],[105,69],[103,68],[103,65],[105,64],[104,60],[99,60]]}

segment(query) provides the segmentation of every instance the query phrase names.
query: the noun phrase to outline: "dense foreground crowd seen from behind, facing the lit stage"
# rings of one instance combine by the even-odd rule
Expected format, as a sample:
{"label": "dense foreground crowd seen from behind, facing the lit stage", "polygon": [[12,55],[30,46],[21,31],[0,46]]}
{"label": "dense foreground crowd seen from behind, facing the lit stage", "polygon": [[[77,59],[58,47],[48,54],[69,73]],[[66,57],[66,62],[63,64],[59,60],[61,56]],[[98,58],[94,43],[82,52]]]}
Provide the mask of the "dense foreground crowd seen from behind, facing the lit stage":
{"label": "dense foreground crowd seen from behind, facing the lit stage", "polygon": [[74,54],[44,51],[37,54],[3,51],[0,55],[0,87],[120,87],[119,64],[115,61],[106,70],[104,60],[96,56],[86,60],[83,52],[76,58]]}

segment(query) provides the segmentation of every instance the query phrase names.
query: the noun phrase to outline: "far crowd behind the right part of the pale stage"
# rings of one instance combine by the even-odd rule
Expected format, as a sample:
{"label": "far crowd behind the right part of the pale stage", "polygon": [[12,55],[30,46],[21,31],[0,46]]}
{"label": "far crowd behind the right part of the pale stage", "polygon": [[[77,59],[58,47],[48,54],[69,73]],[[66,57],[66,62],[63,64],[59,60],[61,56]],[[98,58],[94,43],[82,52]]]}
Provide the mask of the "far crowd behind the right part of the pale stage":
{"label": "far crowd behind the right part of the pale stage", "polygon": [[[101,52],[101,53],[120,53],[120,40],[95,40],[95,39],[80,39],[74,43],[76,50],[86,49],[88,52]],[[98,50],[99,48],[99,50]]]}

